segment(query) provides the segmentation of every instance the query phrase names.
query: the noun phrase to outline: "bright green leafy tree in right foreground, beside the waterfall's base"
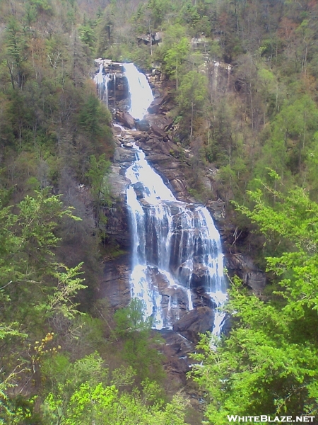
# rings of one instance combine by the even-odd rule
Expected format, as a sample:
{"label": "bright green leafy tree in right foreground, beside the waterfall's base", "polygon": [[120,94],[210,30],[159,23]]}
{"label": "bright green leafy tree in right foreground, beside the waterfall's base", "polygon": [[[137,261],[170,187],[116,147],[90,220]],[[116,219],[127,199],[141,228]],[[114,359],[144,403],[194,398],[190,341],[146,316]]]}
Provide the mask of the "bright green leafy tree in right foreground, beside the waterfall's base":
{"label": "bright green leafy tree in right foreground, beside the waterfall's base", "polygon": [[[208,392],[206,416],[216,425],[233,412],[314,416],[318,410],[318,204],[301,188],[285,195],[263,188],[249,193],[253,210],[237,208],[288,251],[266,259],[278,284],[269,300],[247,295],[235,279],[230,335],[216,341],[216,349],[207,336],[199,344],[204,352],[195,358],[203,366],[195,367],[194,379]],[[273,207],[265,201],[268,193],[275,196]]]}

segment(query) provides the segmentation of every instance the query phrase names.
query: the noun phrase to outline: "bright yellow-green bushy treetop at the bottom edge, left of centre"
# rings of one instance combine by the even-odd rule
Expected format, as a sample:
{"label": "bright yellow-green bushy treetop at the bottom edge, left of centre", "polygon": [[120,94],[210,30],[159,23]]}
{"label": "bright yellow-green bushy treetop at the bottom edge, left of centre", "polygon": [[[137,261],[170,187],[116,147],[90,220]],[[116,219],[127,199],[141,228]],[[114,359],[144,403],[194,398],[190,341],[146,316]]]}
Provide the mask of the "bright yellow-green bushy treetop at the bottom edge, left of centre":
{"label": "bright yellow-green bushy treetop at the bottom edge, left of centre", "polygon": [[[131,368],[112,372],[103,366],[98,353],[71,363],[57,355],[43,365],[51,381],[42,404],[45,424],[67,425],[184,425],[187,402],[180,395],[165,404],[158,384],[145,380],[139,389]],[[134,385],[134,390],[124,390]]]}

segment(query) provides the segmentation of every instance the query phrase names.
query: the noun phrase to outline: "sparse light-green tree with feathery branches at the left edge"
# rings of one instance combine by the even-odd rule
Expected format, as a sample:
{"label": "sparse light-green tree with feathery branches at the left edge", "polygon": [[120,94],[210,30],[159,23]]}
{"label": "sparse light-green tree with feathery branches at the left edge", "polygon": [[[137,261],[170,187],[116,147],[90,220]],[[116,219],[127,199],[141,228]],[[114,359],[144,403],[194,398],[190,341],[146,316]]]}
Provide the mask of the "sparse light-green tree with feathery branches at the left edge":
{"label": "sparse light-green tree with feathery branches at the left edge", "polygon": [[[73,317],[73,297],[85,288],[79,277],[81,264],[66,268],[54,261],[57,223],[63,217],[77,220],[71,208],[64,208],[59,196],[49,196],[47,189],[35,198],[26,196],[16,208],[16,214],[8,206],[0,210],[0,339],[7,352],[6,364],[1,365],[0,402],[9,424],[15,413],[8,388],[18,384],[21,374],[37,379],[42,345],[35,340],[43,334],[45,321],[54,314]],[[27,338],[30,345],[25,349]]]}

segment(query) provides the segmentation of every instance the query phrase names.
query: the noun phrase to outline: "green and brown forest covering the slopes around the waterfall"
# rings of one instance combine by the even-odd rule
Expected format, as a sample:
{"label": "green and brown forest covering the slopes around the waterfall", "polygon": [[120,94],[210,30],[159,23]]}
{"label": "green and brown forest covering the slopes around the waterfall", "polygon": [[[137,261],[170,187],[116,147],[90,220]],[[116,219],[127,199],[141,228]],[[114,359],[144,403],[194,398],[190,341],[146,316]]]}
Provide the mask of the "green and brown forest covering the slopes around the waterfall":
{"label": "green and brown forest covering the slopes around the waterfall", "polygon": [[[317,38],[317,0],[0,0],[0,424],[318,417]],[[120,254],[100,214],[116,196],[98,57],[165,75],[189,193],[225,201],[268,276],[261,296],[229,278],[231,329],[192,355],[198,409],[167,385],[142,303],[96,297]]]}

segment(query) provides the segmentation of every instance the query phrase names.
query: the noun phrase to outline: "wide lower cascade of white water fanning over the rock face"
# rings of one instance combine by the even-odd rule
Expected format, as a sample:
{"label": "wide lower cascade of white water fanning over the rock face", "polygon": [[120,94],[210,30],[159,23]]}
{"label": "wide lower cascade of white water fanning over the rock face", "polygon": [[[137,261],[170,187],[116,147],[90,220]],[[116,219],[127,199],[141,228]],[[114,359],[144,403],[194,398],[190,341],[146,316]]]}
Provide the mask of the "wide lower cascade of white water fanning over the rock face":
{"label": "wide lower cascade of white water fanning over the rock face", "polygon": [[[208,210],[177,201],[140,150],[126,178],[134,236],[131,295],[145,302],[155,327],[171,327],[184,310],[192,310],[198,276],[211,305],[222,306],[223,254]],[[213,333],[219,333],[223,317],[216,311]]]}

